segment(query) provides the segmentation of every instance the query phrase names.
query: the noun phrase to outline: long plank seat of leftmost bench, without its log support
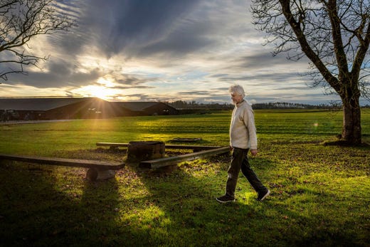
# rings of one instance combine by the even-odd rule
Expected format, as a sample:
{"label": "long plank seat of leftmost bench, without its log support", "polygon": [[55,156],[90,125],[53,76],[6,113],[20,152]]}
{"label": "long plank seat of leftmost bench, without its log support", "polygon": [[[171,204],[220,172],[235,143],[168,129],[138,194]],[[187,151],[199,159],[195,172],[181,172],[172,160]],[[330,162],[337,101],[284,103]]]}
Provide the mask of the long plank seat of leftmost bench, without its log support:
{"label": "long plank seat of leftmost bench, without its log support", "polygon": [[108,163],[100,162],[97,160],[90,159],[63,159],[63,158],[51,158],[51,157],[31,157],[11,154],[0,154],[0,159],[18,161],[18,162],[30,162],[36,164],[51,164],[56,166],[64,167],[85,167],[85,168],[96,168],[96,169],[121,169],[125,167],[125,163]]}

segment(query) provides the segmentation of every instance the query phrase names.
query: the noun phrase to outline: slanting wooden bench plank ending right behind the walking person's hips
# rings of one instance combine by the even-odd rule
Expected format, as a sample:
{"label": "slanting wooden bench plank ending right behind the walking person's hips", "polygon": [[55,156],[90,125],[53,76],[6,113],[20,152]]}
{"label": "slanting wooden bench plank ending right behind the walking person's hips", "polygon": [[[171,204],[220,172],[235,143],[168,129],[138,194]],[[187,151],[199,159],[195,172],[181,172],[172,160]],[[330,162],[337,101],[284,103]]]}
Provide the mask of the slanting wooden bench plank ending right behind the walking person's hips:
{"label": "slanting wooden bench plank ending right behind the walking person's hips", "polygon": [[140,162],[139,167],[143,168],[159,168],[166,167],[172,164],[178,164],[186,160],[199,159],[201,157],[209,157],[216,154],[224,154],[230,152],[230,147],[218,147],[209,150],[203,150],[201,152],[194,152],[190,154],[182,154],[174,157],[166,157],[162,159],[152,159]]}

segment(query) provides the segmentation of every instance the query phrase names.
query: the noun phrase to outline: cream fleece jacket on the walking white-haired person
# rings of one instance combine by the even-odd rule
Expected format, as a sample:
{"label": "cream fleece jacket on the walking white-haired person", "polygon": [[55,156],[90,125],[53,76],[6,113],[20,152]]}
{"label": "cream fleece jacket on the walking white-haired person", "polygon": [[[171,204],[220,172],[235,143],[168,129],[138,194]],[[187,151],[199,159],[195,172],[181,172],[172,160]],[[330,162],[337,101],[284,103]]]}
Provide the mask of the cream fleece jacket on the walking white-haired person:
{"label": "cream fleece jacket on the walking white-haired person", "polygon": [[230,146],[257,149],[254,113],[252,107],[245,100],[235,105],[231,116]]}

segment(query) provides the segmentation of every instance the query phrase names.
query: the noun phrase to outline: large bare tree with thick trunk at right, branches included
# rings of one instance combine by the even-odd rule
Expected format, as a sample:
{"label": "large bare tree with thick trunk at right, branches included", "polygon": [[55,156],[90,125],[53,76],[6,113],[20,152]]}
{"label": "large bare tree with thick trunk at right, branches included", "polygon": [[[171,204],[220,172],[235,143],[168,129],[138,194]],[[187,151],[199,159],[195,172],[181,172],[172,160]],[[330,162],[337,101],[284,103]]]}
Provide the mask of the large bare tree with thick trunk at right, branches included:
{"label": "large bare tree with thick trunk at right, branches included", "polygon": [[254,24],[275,55],[310,59],[314,85],[342,100],[342,139],[361,144],[359,98],[369,96],[369,0],[252,0]]}

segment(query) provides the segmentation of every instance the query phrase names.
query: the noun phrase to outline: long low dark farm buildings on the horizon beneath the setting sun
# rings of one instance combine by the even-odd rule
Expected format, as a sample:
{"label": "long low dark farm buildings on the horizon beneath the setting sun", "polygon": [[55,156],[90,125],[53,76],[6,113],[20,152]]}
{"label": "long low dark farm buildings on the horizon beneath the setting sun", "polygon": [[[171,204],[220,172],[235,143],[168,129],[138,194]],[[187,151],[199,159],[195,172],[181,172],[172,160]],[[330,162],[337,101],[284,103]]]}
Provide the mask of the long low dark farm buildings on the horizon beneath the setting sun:
{"label": "long low dark farm buildings on the horizon beneath the setting sun", "polygon": [[65,120],[178,114],[159,102],[122,103],[100,98],[0,98],[0,120]]}

